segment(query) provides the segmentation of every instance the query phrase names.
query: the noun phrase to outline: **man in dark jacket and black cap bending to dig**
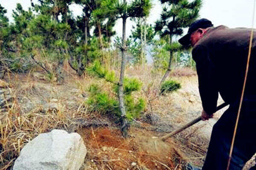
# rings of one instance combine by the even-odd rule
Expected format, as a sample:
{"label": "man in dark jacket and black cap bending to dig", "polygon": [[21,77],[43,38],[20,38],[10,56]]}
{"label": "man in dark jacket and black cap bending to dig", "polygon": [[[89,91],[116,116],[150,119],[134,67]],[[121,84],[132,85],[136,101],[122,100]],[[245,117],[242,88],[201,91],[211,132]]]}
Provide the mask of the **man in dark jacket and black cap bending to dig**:
{"label": "man in dark jacket and black cap bending to dig", "polygon": [[[207,19],[197,20],[179,42],[192,45],[199,92],[203,105],[201,118],[208,120],[216,111],[218,92],[230,106],[213,126],[203,170],[226,170],[241,98],[249,51],[247,28],[212,27]],[[256,31],[253,35],[249,72],[230,170],[241,170],[256,153]],[[253,167],[254,168],[254,167]],[[251,169],[251,170],[255,170]]]}

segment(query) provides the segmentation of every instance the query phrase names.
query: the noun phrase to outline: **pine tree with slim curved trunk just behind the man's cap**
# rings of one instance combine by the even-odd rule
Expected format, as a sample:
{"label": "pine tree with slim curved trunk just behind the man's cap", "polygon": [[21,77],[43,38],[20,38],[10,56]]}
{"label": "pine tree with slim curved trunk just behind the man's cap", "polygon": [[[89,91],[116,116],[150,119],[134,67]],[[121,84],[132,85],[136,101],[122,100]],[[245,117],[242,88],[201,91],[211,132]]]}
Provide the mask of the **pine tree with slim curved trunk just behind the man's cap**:
{"label": "pine tree with slim curved trunk just behind the man's cap", "polygon": [[180,48],[177,42],[172,42],[174,36],[183,34],[183,28],[188,27],[198,17],[202,0],[160,0],[163,4],[163,12],[160,20],[157,20],[155,30],[161,37],[168,36],[170,59],[168,69],[161,83],[169,76],[174,51]]}

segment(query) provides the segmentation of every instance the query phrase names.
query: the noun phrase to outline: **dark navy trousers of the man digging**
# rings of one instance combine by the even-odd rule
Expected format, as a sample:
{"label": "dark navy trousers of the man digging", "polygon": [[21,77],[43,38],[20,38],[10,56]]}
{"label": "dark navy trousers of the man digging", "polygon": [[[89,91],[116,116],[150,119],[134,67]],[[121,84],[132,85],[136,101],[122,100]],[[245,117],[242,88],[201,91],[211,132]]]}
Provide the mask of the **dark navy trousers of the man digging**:
{"label": "dark navy trousers of the man digging", "polygon": [[[254,97],[253,97],[254,98]],[[229,170],[241,170],[256,153],[256,98],[244,99]],[[212,129],[202,170],[226,170],[239,102],[230,105]],[[256,170],[256,167],[250,170]]]}

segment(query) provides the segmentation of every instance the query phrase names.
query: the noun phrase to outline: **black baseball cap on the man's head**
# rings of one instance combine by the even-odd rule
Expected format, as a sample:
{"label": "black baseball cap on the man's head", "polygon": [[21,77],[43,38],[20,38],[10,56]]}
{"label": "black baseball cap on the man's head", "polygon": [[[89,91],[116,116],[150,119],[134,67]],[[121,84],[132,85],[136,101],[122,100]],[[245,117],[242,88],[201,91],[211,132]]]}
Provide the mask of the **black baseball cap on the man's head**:
{"label": "black baseball cap on the man's head", "polygon": [[190,26],[189,26],[189,31],[188,33],[183,36],[182,38],[180,38],[179,42],[181,45],[183,46],[188,46],[190,45],[190,35],[196,31],[198,28],[208,28],[208,27],[211,27],[213,26],[212,25],[212,22],[205,19],[205,18],[202,18],[200,20],[196,20],[194,23],[192,23]]}

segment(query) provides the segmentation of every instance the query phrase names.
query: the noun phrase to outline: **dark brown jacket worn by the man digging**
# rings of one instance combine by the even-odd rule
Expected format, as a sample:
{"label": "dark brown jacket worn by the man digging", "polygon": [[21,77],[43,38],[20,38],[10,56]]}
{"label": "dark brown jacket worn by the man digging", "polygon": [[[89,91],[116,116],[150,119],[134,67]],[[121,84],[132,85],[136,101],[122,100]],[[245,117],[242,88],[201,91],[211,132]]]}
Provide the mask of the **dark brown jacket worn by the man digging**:
{"label": "dark brown jacket worn by the man digging", "polygon": [[[212,114],[216,110],[218,92],[225,102],[236,102],[242,91],[248,57],[250,31],[247,28],[210,28],[199,40],[192,57],[198,72],[199,92],[204,110]],[[256,100],[256,31],[245,98]]]}

